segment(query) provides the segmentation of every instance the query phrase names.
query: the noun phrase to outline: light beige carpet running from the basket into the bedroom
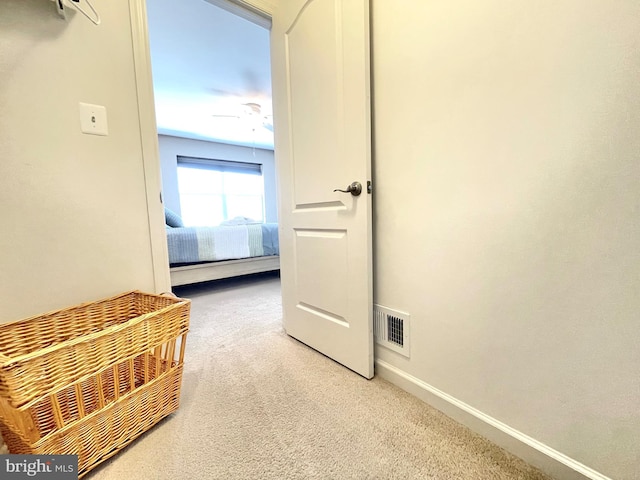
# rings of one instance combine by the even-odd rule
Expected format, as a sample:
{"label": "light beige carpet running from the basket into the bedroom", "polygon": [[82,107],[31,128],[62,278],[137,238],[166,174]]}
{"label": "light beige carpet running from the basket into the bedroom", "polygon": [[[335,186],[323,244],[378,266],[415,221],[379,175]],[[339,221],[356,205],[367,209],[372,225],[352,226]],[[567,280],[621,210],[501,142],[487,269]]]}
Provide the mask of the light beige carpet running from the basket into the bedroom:
{"label": "light beige carpet running from the basket into the bedroom", "polygon": [[180,410],[85,478],[549,480],[288,337],[277,277],[176,293],[193,300]]}

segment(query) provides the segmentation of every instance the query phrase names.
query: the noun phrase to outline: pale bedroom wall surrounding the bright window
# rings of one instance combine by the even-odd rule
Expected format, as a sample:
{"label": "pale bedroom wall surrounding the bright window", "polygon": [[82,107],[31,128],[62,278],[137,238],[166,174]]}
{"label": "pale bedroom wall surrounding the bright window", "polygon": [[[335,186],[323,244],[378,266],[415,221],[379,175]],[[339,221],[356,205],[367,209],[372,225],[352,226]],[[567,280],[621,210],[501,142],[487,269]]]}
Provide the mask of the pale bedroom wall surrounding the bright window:
{"label": "pale bedroom wall surrounding the bright window", "polygon": [[180,214],[178,193],[178,155],[187,157],[213,158],[236,162],[262,164],[264,178],[265,221],[278,221],[278,201],[276,192],[276,171],[273,150],[240,147],[203,140],[158,135],[160,163],[162,166],[162,195],[167,208]]}

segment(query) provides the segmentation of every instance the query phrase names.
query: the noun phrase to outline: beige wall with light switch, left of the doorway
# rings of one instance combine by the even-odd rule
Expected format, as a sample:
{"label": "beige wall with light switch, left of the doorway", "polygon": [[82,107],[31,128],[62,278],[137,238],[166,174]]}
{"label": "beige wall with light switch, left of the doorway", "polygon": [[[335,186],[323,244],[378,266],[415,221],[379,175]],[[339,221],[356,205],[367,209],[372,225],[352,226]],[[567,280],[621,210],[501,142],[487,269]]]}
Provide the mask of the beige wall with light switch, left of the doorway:
{"label": "beige wall with light switch, left of the doorway", "polygon": [[[128,2],[0,2],[0,322],[153,291]],[[78,103],[109,136],[80,132]]]}

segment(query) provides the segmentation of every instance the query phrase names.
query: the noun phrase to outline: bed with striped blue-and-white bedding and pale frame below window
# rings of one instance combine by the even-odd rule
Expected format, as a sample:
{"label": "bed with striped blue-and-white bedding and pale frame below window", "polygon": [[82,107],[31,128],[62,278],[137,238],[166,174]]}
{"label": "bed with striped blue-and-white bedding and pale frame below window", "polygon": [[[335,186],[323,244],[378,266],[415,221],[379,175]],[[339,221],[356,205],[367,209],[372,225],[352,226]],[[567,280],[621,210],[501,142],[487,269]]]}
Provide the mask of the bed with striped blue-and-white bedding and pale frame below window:
{"label": "bed with striped blue-and-white bedding and pale frame below window", "polygon": [[167,225],[171,286],[280,269],[278,224]]}

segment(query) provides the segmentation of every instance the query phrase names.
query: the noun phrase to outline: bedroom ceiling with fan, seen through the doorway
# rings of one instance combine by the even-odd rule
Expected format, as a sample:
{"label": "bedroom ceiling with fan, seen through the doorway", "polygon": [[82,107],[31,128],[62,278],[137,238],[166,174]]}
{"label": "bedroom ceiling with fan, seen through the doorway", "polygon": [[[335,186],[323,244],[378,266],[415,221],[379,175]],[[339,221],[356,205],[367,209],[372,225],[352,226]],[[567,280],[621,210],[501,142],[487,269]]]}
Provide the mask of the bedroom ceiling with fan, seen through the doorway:
{"label": "bedroom ceiling with fan, seen through the doorway", "polygon": [[158,133],[273,149],[269,30],[205,0],[147,13]]}

